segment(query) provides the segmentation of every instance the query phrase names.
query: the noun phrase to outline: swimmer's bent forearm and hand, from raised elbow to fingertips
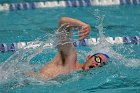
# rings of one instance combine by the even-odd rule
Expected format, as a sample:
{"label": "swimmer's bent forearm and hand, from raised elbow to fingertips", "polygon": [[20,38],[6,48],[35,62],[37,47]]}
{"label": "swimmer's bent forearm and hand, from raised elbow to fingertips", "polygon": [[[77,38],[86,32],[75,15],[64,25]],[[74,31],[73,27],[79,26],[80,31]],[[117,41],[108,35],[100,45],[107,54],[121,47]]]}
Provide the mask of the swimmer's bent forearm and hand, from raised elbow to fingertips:
{"label": "swimmer's bent forearm and hand, from raised elbow to fingertips", "polygon": [[90,25],[88,25],[80,20],[69,18],[69,17],[62,17],[59,21],[60,26],[63,24],[66,24],[66,23],[82,26],[82,29],[80,30],[80,34],[79,34],[79,37],[80,37],[79,40],[84,39],[90,33],[90,30],[91,30]]}

